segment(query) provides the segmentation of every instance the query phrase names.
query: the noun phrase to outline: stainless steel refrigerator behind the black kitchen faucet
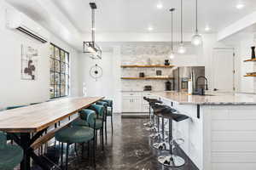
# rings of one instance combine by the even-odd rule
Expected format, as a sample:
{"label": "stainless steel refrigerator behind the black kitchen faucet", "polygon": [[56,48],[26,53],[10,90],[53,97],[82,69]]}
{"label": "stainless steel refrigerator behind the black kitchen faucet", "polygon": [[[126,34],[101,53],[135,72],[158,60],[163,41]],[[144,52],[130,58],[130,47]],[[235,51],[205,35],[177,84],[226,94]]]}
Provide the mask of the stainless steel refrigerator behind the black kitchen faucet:
{"label": "stainless steel refrigerator behind the black kitchen faucet", "polygon": [[[174,90],[177,92],[188,91],[188,81],[192,80],[193,92],[195,92],[195,81],[197,77],[205,77],[204,66],[185,66],[177,67],[173,71]],[[205,86],[204,80],[200,79],[199,86]]]}

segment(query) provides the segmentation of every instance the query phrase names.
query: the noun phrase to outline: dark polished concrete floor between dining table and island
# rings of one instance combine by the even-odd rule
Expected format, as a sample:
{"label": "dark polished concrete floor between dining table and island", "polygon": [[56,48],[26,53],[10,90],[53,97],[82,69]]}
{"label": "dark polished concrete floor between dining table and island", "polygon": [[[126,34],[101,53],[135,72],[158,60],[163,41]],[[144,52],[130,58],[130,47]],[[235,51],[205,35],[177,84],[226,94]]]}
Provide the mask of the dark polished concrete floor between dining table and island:
{"label": "dark polished concrete floor between dining table and island", "polygon": [[[96,150],[96,170],[166,170],[160,166],[156,160],[160,154],[159,151],[153,150],[150,143],[154,142],[148,138],[148,131],[143,127],[144,122],[148,119],[138,118],[121,118],[119,115],[113,116],[113,136],[111,135],[110,123],[108,124],[108,144],[102,151],[100,140]],[[110,122],[110,119],[109,119]],[[78,155],[73,150],[69,155],[69,170],[90,170],[92,161],[89,161],[85,148],[84,158],[81,156],[81,146],[78,148]],[[172,168],[173,170],[197,170],[191,161],[180,150],[176,150],[179,156],[182,156],[187,163],[184,167]],[[54,151],[52,152],[54,153]],[[49,152],[50,155],[50,152]],[[56,153],[54,154],[56,156]],[[58,154],[57,154],[58,155]],[[54,156],[51,156],[54,157]],[[54,158],[58,160],[59,158]],[[65,160],[65,157],[64,157]],[[40,170],[40,168],[32,168]],[[53,168],[59,169],[59,168]]]}

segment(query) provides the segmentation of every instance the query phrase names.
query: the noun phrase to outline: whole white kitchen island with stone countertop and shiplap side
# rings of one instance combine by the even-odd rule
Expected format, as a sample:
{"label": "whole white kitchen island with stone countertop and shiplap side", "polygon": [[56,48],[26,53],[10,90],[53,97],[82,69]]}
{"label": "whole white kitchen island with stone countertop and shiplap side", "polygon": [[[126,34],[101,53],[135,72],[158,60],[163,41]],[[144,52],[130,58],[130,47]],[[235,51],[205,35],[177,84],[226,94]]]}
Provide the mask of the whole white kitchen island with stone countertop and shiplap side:
{"label": "whole white kitchen island with stone countertop and shiplap side", "polygon": [[152,93],[189,120],[174,123],[174,138],[201,170],[256,169],[256,95]]}

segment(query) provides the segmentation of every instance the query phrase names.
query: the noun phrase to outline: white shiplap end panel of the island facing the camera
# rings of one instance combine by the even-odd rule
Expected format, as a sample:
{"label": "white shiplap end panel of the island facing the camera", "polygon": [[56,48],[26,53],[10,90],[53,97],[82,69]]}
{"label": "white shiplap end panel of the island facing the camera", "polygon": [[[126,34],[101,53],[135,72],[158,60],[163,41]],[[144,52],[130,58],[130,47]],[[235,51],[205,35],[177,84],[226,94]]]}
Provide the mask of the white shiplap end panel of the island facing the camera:
{"label": "white shiplap end panel of the island facing the camera", "polygon": [[204,107],[204,169],[255,170],[256,106]]}

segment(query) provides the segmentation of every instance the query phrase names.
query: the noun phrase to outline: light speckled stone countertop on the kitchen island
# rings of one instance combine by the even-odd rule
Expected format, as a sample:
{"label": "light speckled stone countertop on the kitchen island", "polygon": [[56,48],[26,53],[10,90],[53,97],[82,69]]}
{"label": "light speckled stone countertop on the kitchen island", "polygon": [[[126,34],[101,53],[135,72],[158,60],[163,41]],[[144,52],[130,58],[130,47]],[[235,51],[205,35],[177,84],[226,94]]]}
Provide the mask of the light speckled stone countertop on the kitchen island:
{"label": "light speckled stone countertop on the kitchen island", "polygon": [[255,94],[232,94],[212,92],[212,96],[188,95],[177,92],[151,93],[163,99],[169,99],[179,105],[256,105]]}

